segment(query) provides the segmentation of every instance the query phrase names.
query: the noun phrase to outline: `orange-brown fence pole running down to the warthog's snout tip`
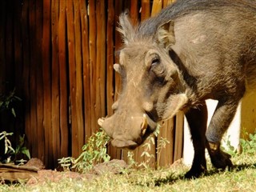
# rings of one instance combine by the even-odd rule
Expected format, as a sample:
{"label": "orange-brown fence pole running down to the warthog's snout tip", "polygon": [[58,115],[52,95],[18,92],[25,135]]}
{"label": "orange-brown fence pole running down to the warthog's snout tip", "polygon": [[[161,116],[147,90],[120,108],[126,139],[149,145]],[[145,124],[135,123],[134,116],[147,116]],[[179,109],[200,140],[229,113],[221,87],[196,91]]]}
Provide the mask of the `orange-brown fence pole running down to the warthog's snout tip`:
{"label": "orange-brown fence pole running down to the warthog's snout tip", "polygon": [[[106,13],[105,1],[96,1],[96,119],[106,116]],[[98,125],[97,125],[98,127]],[[94,127],[96,129],[97,127]]]}

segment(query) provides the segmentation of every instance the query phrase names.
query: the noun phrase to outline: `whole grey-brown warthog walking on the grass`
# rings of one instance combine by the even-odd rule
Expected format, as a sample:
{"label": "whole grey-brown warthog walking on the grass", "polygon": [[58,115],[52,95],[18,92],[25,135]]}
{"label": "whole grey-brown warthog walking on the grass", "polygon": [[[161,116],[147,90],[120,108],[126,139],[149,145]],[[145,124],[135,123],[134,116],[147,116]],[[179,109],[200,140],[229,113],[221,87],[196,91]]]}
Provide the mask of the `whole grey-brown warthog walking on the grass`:
{"label": "whole grey-brown warthog walking on the grass", "polygon": [[[215,167],[232,166],[220,142],[239,100],[255,85],[256,2],[179,0],[138,26],[127,14],[119,22],[124,47],[114,69],[122,91],[114,114],[98,120],[112,145],[134,149],[157,122],[182,110],[194,145],[186,177],[206,171],[205,148]],[[208,129],[207,98],[218,100]]]}

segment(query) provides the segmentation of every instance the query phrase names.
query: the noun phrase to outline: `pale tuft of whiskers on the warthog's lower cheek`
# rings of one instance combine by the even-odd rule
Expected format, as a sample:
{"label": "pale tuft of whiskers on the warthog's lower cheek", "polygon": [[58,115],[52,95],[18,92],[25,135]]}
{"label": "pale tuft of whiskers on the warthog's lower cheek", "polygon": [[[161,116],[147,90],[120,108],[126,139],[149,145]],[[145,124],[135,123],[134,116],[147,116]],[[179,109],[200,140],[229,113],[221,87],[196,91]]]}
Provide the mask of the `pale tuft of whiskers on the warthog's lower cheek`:
{"label": "pale tuft of whiskers on the warthog's lower cheek", "polygon": [[173,118],[179,110],[182,110],[187,102],[188,98],[186,97],[186,94],[174,94],[170,96],[170,98],[166,102],[166,110],[162,115],[162,120]]}

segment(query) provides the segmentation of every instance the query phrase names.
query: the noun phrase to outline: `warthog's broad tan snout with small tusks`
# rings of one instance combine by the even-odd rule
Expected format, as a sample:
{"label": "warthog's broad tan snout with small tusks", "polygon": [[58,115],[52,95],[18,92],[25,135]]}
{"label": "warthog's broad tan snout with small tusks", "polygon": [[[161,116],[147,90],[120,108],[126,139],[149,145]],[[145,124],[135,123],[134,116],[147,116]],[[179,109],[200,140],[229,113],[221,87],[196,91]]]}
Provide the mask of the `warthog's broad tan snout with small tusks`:
{"label": "warthog's broad tan snout with small tusks", "polygon": [[112,146],[118,148],[135,149],[156,128],[156,123],[147,114],[130,116],[122,119],[122,122],[120,119],[122,118],[118,117],[118,114],[114,114],[110,118],[98,119],[98,125],[102,126],[106,134],[113,139],[111,141]]}

